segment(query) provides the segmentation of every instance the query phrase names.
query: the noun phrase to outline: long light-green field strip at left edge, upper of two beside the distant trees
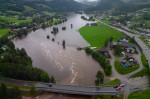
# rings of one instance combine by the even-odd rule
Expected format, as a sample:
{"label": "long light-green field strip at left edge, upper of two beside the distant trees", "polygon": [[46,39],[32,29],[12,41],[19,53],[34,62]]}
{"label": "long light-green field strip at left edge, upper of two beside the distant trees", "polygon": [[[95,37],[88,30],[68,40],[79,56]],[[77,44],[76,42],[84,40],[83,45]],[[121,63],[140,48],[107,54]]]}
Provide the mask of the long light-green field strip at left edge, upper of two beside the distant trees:
{"label": "long light-green field strip at left edge, upper of two beside the distant trees", "polygon": [[2,20],[6,20],[8,22],[17,22],[17,23],[25,23],[25,22],[31,22],[32,20],[29,18],[26,18],[26,20],[18,20],[17,17],[0,17]]}

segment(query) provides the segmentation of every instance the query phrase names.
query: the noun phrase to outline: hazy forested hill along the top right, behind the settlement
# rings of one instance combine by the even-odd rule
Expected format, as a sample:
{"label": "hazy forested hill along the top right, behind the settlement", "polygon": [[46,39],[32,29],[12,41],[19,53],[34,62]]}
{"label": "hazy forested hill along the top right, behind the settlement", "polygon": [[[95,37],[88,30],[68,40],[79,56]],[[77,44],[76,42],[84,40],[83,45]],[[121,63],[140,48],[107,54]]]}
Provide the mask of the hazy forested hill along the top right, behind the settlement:
{"label": "hazy forested hill along the top right, behind the settlement", "polygon": [[[124,0],[125,1],[125,0]],[[105,11],[111,11],[112,15],[121,15],[125,13],[134,12],[143,8],[150,8],[150,3],[145,3],[147,0],[138,3],[136,0],[128,0],[124,2],[123,0],[101,0],[97,6],[91,7],[85,10],[85,12],[98,11],[103,13]],[[142,0],[139,0],[142,1]]]}

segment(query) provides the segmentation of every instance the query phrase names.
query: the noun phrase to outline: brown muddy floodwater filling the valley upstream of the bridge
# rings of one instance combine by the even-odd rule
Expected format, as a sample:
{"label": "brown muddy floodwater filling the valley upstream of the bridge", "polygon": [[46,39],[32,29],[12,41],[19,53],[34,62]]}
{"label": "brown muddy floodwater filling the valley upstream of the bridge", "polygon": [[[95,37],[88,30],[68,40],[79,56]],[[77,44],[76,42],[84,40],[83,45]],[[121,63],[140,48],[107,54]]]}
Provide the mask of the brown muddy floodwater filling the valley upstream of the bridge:
{"label": "brown muddy floodwater filling the valley upstream of the bridge", "polygon": [[[31,32],[21,39],[15,38],[13,42],[16,48],[25,48],[33,60],[34,67],[44,69],[50,76],[54,75],[58,84],[94,86],[97,71],[103,71],[103,69],[85,51],[76,49],[90,46],[78,32],[79,28],[90,22],[84,21],[80,17],[79,14],[68,13],[67,22],[55,26],[59,28],[59,33],[56,35],[51,34],[53,27],[49,27]],[[73,28],[71,28],[71,24],[73,24]],[[65,31],[62,30],[63,26],[66,27]],[[50,36],[50,39],[47,39],[47,35]],[[52,38],[55,39],[54,42]],[[62,47],[63,40],[66,41],[65,49]],[[108,79],[105,79],[105,82],[107,81]],[[50,98],[47,99],[76,98],[50,95]],[[78,99],[85,99],[85,97],[78,97]]]}

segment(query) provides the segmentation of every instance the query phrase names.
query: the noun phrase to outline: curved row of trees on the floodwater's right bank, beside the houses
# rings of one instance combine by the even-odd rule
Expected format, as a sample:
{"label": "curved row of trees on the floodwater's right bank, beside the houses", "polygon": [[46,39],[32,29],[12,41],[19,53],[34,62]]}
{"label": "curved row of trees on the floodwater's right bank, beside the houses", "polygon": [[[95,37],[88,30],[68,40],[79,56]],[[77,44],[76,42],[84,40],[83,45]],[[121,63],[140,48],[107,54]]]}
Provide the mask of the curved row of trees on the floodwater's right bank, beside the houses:
{"label": "curved row of trees on the floodwater's right bank, beside the houses", "polygon": [[86,48],[85,51],[86,53],[91,54],[92,57],[95,58],[99,62],[99,64],[103,67],[106,75],[110,76],[112,74],[112,70],[111,70],[112,66],[103,55],[99,54],[96,51],[93,51],[90,48]]}

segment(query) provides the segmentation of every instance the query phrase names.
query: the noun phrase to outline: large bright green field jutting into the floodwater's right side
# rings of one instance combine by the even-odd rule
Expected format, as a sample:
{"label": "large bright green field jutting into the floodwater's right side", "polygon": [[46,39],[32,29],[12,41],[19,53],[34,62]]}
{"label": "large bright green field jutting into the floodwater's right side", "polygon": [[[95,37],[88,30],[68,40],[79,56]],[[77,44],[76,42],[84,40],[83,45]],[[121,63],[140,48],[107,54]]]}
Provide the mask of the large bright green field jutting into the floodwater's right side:
{"label": "large bright green field jutting into the floodwater's right side", "polygon": [[84,26],[79,32],[92,47],[104,46],[105,40],[111,36],[114,38],[114,41],[118,41],[120,37],[125,36],[125,34],[103,24],[99,26]]}

